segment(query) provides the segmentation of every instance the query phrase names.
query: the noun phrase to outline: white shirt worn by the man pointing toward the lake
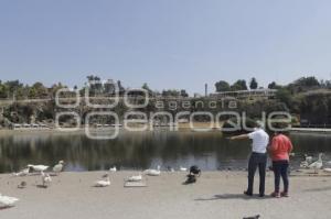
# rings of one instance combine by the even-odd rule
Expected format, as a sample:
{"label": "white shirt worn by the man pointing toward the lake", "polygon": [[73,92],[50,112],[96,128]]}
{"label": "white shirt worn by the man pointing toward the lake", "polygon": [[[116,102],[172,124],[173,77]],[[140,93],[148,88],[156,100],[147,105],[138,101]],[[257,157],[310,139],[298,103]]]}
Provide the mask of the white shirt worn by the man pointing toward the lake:
{"label": "white shirt worn by the man pointing toward the lake", "polygon": [[266,153],[269,144],[269,135],[265,130],[258,128],[254,132],[248,133],[248,138],[253,140],[252,151],[256,153]]}

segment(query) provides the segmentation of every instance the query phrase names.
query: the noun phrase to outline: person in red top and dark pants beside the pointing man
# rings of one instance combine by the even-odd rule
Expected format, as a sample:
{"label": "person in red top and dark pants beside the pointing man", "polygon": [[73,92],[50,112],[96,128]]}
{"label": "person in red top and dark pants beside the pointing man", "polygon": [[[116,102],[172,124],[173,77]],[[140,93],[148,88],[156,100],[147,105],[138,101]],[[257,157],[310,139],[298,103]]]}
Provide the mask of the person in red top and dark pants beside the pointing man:
{"label": "person in red top and dark pants beside the pointing man", "polygon": [[[269,147],[273,160],[273,169],[275,174],[275,191],[271,196],[279,198],[280,196],[288,197],[288,166],[289,153],[293,146],[288,136],[281,132],[276,132]],[[284,191],[279,193],[280,176],[284,183]]]}

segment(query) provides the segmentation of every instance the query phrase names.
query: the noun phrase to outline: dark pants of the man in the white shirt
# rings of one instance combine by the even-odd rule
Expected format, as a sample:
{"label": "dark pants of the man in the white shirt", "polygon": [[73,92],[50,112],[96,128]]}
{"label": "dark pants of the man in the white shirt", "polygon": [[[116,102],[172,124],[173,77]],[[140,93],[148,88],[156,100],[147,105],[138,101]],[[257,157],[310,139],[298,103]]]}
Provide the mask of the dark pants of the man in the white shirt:
{"label": "dark pants of the man in the white shirt", "polygon": [[256,168],[259,172],[259,195],[265,195],[267,154],[253,152],[248,162],[248,188],[247,194],[253,194],[254,175]]}

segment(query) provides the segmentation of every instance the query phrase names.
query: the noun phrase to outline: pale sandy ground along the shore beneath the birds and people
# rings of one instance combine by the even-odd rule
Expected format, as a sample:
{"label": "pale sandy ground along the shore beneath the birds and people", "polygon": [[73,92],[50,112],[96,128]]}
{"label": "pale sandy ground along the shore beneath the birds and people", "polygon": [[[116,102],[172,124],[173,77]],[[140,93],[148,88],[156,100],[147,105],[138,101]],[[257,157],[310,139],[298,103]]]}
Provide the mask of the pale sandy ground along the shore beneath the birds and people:
{"label": "pale sandy ground along the shore beneath the birds and people", "polygon": [[[148,177],[148,187],[125,188],[124,178],[137,172],[110,174],[111,185],[93,187],[105,172],[62,173],[49,188],[40,188],[40,176],[0,175],[0,193],[21,200],[0,210],[2,219],[158,219],[228,218],[259,213],[261,218],[331,218],[331,177],[290,178],[289,198],[245,197],[245,172],[204,172],[194,185],[182,185],[185,173]],[[26,188],[17,186],[22,180]],[[256,182],[257,184],[257,182]],[[273,175],[267,176],[267,194]],[[257,189],[256,189],[257,190]]]}

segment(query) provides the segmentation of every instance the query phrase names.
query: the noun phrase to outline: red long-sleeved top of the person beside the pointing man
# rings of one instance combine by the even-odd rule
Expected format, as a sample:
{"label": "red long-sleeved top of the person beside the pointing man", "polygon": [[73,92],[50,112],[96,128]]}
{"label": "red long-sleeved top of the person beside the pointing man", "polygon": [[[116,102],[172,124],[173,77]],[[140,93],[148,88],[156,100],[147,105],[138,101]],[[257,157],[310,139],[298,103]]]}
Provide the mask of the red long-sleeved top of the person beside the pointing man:
{"label": "red long-sleeved top of the person beside the pointing man", "polygon": [[288,161],[293,146],[288,136],[277,134],[273,138],[270,152],[273,161]]}

